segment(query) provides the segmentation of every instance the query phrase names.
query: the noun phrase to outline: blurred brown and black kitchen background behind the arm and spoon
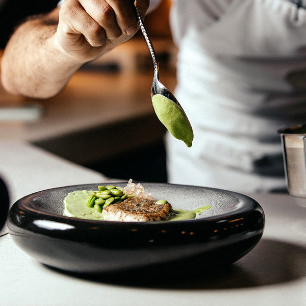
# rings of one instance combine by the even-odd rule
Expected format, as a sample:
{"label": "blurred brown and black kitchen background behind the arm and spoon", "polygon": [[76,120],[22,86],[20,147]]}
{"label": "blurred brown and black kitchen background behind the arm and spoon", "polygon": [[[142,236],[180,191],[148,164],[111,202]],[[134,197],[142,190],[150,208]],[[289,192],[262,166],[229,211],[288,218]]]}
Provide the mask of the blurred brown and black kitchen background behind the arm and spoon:
{"label": "blurred brown and black kitchen background behind the arm and spoon", "polygon": [[[42,2],[32,2],[30,8],[28,2],[0,0],[2,50],[19,20],[42,12]],[[173,90],[176,48],[168,23],[170,5],[170,0],[163,0],[145,23],[160,62],[161,81]],[[53,7],[51,1],[49,9]],[[153,73],[139,32],[84,65],[54,98],[14,96],[1,86],[0,141],[30,142],[117,179],[166,182],[165,128],[150,99]]]}

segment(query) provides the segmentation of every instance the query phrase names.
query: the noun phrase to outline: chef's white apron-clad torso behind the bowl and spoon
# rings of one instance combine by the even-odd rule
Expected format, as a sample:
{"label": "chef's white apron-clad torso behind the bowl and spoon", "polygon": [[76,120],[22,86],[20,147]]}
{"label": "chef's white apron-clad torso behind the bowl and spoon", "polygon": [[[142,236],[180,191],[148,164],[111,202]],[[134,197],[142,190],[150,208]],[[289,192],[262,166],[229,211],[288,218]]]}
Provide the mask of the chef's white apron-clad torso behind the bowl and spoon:
{"label": "chef's white apron-clad torso behind the bowl and spoon", "polygon": [[170,183],[285,190],[280,137],[306,122],[306,10],[289,0],[173,0],[177,87],[194,130],[167,135]]}

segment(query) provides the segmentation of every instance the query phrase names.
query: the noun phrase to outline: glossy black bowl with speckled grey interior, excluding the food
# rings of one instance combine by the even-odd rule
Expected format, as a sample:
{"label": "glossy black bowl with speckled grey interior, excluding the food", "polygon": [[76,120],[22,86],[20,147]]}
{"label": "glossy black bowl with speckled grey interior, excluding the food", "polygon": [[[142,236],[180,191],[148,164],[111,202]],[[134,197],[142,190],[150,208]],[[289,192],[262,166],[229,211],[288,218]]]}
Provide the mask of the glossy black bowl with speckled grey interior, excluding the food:
{"label": "glossy black bowl with speckled grey interior, excluding the food", "polygon": [[103,184],[48,189],[19,199],[8,219],[14,242],[51,267],[108,273],[162,265],[167,271],[178,265],[186,269],[227,265],[250,251],[263,234],[265,217],[258,202],[235,192],[195,186],[142,183],[156,200],[167,199],[174,209],[212,206],[192,220],[107,222],[62,215],[68,192],[97,190],[98,185]]}

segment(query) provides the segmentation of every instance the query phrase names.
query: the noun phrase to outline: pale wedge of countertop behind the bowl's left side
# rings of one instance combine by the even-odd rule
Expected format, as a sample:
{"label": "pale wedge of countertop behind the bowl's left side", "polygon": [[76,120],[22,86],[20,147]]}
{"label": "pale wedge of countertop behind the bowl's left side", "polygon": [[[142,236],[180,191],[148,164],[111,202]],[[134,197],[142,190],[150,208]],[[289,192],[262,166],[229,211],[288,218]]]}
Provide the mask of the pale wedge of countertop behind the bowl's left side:
{"label": "pale wedge of countertop behind the bowl's left side", "polygon": [[[11,205],[39,190],[113,181],[32,144],[5,140],[0,140],[0,177],[8,185]],[[3,228],[0,236],[5,233]]]}

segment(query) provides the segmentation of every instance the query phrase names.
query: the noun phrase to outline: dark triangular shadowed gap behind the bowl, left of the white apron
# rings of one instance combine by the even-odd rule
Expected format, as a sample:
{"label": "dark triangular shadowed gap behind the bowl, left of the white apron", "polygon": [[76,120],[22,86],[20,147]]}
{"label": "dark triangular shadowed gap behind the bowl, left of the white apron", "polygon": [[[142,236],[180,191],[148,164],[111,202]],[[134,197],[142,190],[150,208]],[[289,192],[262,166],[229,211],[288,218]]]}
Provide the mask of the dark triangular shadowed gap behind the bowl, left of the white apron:
{"label": "dark triangular shadowed gap behind the bowl, left of the white apron", "polygon": [[155,114],[33,142],[73,163],[126,181],[165,183],[164,125]]}

